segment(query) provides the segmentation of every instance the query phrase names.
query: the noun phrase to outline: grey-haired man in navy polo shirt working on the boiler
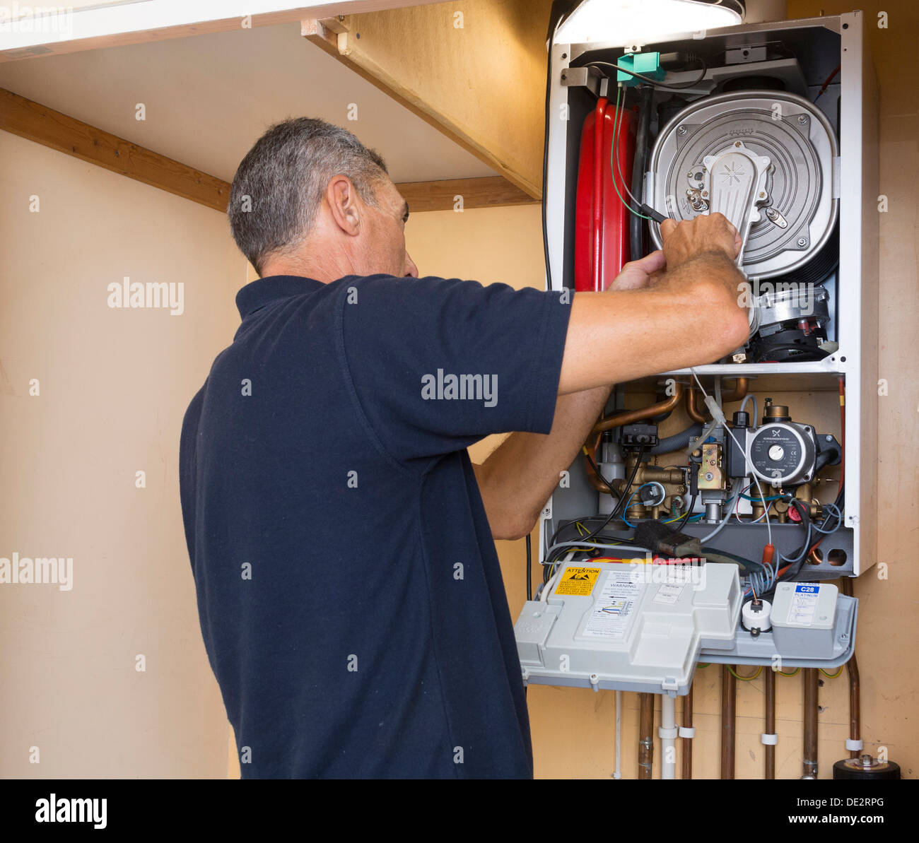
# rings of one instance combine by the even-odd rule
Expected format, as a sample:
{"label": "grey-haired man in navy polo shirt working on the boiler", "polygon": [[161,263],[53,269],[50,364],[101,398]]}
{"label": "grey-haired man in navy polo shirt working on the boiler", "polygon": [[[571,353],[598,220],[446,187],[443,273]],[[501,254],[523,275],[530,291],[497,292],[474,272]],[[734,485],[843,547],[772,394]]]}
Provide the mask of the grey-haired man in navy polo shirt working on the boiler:
{"label": "grey-haired man in navy polo shirt working on the boiler", "polygon": [[532,529],[611,384],[743,343],[736,232],[668,220],[663,252],[570,303],[419,278],[380,156],[307,118],[255,143],[228,213],[261,277],[180,478],[243,777],[531,777],[494,539]]}

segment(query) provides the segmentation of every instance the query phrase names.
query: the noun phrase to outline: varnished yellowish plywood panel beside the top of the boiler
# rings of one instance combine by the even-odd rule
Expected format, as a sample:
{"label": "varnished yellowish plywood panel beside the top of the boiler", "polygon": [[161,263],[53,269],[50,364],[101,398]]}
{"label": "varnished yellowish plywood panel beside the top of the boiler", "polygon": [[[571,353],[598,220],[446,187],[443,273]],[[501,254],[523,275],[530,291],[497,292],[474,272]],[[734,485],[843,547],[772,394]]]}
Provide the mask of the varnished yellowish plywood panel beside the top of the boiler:
{"label": "varnished yellowish plywood panel beside the top of the boiler", "polygon": [[455,0],[301,32],[530,197],[539,198],[550,0]]}

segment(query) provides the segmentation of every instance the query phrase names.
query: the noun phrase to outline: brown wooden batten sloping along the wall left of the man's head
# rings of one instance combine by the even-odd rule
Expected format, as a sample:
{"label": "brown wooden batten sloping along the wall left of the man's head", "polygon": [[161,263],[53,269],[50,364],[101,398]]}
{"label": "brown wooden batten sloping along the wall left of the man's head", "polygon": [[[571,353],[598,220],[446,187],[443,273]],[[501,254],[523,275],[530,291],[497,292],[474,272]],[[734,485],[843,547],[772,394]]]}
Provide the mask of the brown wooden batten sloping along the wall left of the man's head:
{"label": "brown wooden batten sloping along the wall left of the man's head", "polygon": [[5,88],[0,88],[0,129],[208,208],[226,210],[230,185],[221,179]]}

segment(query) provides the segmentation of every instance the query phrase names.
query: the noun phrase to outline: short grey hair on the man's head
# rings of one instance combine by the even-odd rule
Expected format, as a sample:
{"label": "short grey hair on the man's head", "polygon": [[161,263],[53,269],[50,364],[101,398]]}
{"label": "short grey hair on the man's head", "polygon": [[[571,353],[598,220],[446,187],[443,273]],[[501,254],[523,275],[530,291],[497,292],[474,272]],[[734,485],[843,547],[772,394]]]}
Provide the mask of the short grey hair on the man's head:
{"label": "short grey hair on the man's head", "polygon": [[329,180],[346,175],[376,205],[386,163],[347,129],[325,120],[291,118],[255,141],[233,176],[227,217],[233,240],[262,275],[269,255],[284,253],[310,233]]}

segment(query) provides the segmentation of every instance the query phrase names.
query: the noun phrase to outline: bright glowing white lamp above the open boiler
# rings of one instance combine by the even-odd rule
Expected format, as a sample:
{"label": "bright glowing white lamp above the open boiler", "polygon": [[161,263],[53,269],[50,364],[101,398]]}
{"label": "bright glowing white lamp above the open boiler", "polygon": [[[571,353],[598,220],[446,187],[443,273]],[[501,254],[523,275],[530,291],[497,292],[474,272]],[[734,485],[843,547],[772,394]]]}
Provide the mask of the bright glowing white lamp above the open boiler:
{"label": "bright glowing white lamp above the open boiler", "polygon": [[643,45],[677,33],[736,26],[743,13],[743,0],[583,0],[562,21],[555,42]]}

